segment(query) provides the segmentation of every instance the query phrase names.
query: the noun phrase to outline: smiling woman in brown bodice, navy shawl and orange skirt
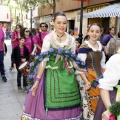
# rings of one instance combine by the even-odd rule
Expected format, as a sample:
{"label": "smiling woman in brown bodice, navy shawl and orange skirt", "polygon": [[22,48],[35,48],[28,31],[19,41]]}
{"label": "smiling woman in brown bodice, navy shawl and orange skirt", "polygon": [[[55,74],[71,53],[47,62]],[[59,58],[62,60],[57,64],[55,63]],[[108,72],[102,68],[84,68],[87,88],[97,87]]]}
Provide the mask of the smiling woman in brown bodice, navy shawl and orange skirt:
{"label": "smiling woman in brown bodice, navy shawl and orange skirt", "polygon": [[91,87],[91,82],[101,77],[102,70],[105,68],[105,55],[102,51],[101,43],[97,41],[101,35],[101,26],[96,23],[92,24],[89,28],[88,35],[89,40],[84,41],[78,51],[78,57],[85,62],[88,75],[85,76],[81,73],[80,76],[83,82],[80,80],[79,72],[76,72],[76,74],[78,74],[78,80],[81,81],[83,87],[83,90],[81,90],[83,118],[84,120],[93,120],[100,91],[97,87]]}

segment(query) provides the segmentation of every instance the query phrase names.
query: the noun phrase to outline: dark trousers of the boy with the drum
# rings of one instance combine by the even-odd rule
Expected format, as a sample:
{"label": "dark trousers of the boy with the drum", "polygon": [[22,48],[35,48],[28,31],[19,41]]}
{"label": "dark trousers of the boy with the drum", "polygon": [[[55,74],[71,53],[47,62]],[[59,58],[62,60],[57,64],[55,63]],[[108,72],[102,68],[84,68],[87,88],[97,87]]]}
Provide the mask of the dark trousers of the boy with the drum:
{"label": "dark trousers of the boy with the drum", "polygon": [[17,69],[17,71],[18,71],[18,73],[17,73],[17,86],[21,87],[21,76],[23,76],[23,87],[28,86],[27,76],[22,75],[21,71],[19,71],[18,69]]}

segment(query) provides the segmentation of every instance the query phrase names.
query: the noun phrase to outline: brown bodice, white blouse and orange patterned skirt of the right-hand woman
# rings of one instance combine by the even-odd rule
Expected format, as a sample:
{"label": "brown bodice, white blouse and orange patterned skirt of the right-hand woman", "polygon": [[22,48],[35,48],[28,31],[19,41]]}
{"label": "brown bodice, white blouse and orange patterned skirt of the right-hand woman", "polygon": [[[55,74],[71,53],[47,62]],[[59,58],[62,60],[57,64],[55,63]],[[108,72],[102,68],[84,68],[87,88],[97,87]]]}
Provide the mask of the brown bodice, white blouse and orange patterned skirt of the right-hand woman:
{"label": "brown bodice, white blouse and orange patterned skirt of the right-hand woman", "polygon": [[[95,49],[89,44],[88,41],[85,41],[78,52],[78,57],[81,60],[85,61],[87,66],[87,79],[89,82],[92,82],[96,78],[102,75],[101,61],[103,59],[102,46],[98,42],[99,48]],[[105,60],[103,60],[105,61]],[[104,65],[103,65],[104,66]],[[77,77],[80,87],[84,87],[84,82],[80,77]],[[83,119],[93,120],[94,112],[99,99],[99,88],[90,88],[88,91],[80,91],[81,98],[83,100]]]}

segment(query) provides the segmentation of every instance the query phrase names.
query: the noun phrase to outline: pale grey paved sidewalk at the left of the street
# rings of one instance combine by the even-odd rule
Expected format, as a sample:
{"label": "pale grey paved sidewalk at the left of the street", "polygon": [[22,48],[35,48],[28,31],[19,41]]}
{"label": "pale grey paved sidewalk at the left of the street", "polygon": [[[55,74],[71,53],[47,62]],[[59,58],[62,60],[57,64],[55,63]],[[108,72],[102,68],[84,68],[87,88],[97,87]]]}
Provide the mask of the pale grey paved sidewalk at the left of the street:
{"label": "pale grey paved sidewalk at the left of the street", "polygon": [[7,82],[0,77],[0,120],[20,120],[25,92],[17,90],[16,70],[9,71],[11,65],[11,44],[6,40],[8,53],[5,56],[5,72]]}

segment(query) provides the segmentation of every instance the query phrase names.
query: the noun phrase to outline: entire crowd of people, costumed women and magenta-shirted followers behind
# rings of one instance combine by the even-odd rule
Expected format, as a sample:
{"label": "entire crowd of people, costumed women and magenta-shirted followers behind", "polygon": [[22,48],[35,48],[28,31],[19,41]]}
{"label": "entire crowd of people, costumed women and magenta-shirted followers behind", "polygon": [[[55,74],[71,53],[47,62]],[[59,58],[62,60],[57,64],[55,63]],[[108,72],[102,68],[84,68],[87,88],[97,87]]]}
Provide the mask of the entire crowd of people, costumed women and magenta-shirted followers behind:
{"label": "entire crowd of people, costumed women and magenta-shirted followers behind", "polygon": [[[73,30],[66,32],[67,18],[63,12],[55,14],[53,24],[51,32],[46,23],[40,23],[39,30],[30,31],[16,25],[12,33],[10,70],[17,69],[19,91],[27,91],[29,77],[22,74],[19,67],[31,56],[37,59],[48,54],[36,65],[34,84],[26,95],[21,120],[110,120],[108,108],[115,102],[117,93],[113,87],[120,79],[120,32],[115,34],[112,27],[103,34],[104,29],[93,23],[88,25],[80,45]],[[0,42],[1,75],[6,82],[2,34]],[[93,87],[96,79],[99,85]]]}

